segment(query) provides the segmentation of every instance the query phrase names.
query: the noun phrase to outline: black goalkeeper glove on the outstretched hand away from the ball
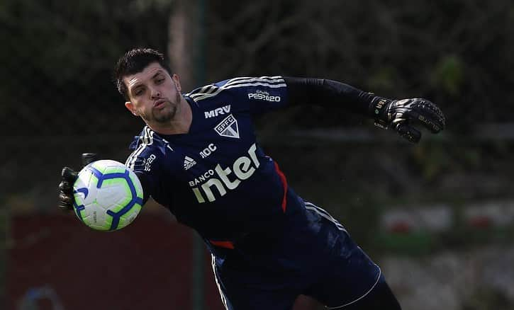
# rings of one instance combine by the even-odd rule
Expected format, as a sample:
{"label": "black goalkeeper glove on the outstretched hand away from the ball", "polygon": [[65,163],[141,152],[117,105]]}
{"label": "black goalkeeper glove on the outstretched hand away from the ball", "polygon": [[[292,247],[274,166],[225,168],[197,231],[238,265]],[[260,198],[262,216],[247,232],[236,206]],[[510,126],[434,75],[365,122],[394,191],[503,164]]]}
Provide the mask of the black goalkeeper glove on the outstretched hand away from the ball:
{"label": "black goalkeeper glove on the outstretched hand away from the ball", "polygon": [[376,126],[395,130],[413,143],[419,142],[421,138],[421,132],[413,127],[414,123],[423,124],[433,134],[446,126],[445,115],[440,108],[422,98],[391,100],[375,97],[370,108]]}

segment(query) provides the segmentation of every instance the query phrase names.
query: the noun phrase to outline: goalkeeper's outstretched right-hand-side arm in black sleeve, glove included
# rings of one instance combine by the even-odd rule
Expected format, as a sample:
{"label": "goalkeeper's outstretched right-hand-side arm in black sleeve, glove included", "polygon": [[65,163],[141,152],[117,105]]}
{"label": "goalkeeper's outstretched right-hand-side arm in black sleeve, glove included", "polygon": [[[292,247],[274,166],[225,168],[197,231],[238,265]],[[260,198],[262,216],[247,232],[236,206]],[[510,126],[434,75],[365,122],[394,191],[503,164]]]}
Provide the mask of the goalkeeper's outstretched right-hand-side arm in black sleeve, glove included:
{"label": "goalkeeper's outstretched right-hand-side arm in black sleeve, glove included", "polygon": [[432,133],[446,126],[440,108],[422,98],[391,100],[361,91],[353,86],[328,79],[284,77],[290,104],[317,103],[340,107],[352,113],[372,117],[375,125],[392,129],[410,142],[418,142],[421,132],[414,123],[421,123]]}

